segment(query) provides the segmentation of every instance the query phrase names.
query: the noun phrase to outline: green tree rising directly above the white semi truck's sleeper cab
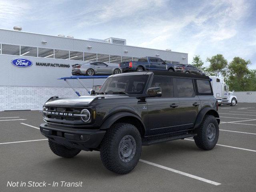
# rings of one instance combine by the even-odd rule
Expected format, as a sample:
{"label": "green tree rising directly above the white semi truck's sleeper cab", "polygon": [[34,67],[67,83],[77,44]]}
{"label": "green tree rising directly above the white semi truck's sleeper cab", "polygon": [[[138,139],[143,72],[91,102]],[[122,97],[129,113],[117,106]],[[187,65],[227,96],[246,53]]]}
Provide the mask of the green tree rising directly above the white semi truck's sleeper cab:
{"label": "green tree rising directly above the white semi truck's sleeper cab", "polygon": [[206,69],[208,75],[226,76],[228,61],[224,58],[222,54],[216,54],[211,58],[206,59],[207,62],[210,62],[210,66]]}

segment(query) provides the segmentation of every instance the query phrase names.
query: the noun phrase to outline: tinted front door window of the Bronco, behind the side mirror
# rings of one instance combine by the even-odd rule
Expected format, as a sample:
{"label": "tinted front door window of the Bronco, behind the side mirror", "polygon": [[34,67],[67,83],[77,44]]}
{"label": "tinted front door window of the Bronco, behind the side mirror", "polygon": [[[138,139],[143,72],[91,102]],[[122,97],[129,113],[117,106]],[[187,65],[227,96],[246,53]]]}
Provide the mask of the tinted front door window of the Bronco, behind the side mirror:
{"label": "tinted front door window of the Bronco, behind the side mirror", "polygon": [[162,97],[173,97],[172,78],[154,76],[150,87],[161,87]]}

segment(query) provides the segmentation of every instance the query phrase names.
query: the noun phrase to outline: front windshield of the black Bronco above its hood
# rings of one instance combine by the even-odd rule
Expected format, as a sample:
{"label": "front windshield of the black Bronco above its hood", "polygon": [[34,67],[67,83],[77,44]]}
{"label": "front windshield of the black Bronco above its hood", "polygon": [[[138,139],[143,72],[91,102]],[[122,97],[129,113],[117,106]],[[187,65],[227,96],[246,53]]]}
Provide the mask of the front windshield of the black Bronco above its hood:
{"label": "front windshield of the black Bronco above its hood", "polygon": [[107,78],[98,94],[142,94],[148,75],[114,76]]}

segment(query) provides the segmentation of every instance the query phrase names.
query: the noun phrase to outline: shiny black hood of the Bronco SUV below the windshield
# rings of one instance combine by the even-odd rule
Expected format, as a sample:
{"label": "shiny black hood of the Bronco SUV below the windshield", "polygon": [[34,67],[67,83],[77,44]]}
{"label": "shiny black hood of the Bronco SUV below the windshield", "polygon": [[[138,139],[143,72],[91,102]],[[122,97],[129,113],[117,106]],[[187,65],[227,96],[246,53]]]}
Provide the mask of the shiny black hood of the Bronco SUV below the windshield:
{"label": "shiny black hood of the Bronco SUV below the windshield", "polygon": [[97,99],[109,99],[109,98],[124,98],[127,95],[110,94],[110,95],[96,95],[96,96],[80,96],[76,98],[54,98],[45,103],[45,105],[53,106],[90,106]]}

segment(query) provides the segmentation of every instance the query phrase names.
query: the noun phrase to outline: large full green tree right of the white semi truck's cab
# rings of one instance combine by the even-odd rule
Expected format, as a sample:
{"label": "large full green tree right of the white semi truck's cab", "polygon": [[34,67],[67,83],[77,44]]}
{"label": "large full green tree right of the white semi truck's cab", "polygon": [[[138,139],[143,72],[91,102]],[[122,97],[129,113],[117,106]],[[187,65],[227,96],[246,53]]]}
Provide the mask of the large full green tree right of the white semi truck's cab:
{"label": "large full green tree right of the white semi truck's cab", "polygon": [[249,64],[251,64],[250,60],[244,60],[240,57],[234,57],[229,63],[227,83],[230,90],[247,91],[250,89],[255,73],[250,72]]}

